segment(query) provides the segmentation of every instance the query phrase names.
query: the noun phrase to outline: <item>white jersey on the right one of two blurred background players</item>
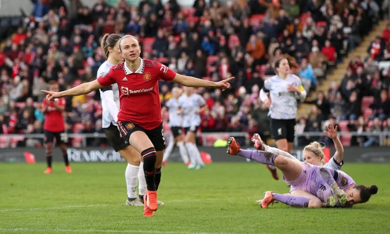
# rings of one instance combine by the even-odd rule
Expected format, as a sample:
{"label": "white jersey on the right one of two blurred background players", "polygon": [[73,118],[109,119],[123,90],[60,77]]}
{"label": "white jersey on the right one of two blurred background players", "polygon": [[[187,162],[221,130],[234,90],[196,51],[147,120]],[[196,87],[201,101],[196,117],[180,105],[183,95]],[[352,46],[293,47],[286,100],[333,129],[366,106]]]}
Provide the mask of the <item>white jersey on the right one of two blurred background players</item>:
{"label": "white jersey on the right one of two blurred background players", "polygon": [[200,125],[200,114],[196,114],[195,111],[204,105],[206,105],[206,101],[198,94],[193,94],[190,97],[187,95],[180,96],[179,107],[183,110],[184,128]]}

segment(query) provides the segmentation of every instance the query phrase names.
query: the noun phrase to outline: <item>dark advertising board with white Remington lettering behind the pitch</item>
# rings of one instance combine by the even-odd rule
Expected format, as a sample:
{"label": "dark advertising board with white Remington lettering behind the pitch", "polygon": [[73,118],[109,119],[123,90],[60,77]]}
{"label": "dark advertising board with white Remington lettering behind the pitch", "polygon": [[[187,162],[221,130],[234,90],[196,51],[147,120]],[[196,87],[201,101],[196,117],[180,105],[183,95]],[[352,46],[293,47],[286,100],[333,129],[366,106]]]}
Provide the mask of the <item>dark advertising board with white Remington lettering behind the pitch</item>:
{"label": "dark advertising board with white Remington lettering behind the pitch", "polygon": [[[295,148],[292,152],[298,159],[303,158],[303,148]],[[226,154],[226,148],[199,147],[199,151],[210,154],[214,162],[245,162],[246,159],[240,156]],[[35,161],[46,161],[44,148],[5,148],[0,149],[0,162],[25,162],[26,154],[32,154]],[[331,148],[331,156],[334,149]],[[124,162],[125,160],[112,148],[86,147],[69,148],[68,157],[72,162]],[[390,148],[385,147],[348,147],[344,149],[344,162],[390,162]],[[59,148],[53,151],[53,161],[62,161],[62,153]],[[181,161],[176,149],[168,161]]]}

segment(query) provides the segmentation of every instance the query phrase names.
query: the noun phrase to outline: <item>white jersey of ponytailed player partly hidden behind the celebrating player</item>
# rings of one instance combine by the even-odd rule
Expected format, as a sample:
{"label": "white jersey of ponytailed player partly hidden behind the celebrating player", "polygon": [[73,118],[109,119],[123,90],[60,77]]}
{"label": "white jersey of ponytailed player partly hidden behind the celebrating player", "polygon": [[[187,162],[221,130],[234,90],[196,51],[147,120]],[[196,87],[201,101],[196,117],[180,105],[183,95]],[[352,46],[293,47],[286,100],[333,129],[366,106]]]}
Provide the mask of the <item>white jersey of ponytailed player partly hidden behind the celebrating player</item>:
{"label": "white jersey of ponytailed player partly hidden behind the celebrating player", "polygon": [[[108,61],[103,62],[103,64],[100,65],[98,69],[98,75],[97,78],[102,74],[110,70],[110,68],[114,66],[113,64],[109,63]],[[117,83],[108,86],[108,87],[103,87],[99,89],[100,92],[100,99],[101,99],[101,107],[103,108],[103,114],[102,114],[102,127],[103,128],[108,128],[110,124],[114,124],[117,126],[117,123],[115,122],[115,118],[111,116],[110,111],[108,110],[106,100],[104,100],[103,97],[103,91],[107,90],[112,90],[114,93],[114,101],[115,104],[117,105],[117,108],[119,110],[119,91],[118,91],[118,85]]]}

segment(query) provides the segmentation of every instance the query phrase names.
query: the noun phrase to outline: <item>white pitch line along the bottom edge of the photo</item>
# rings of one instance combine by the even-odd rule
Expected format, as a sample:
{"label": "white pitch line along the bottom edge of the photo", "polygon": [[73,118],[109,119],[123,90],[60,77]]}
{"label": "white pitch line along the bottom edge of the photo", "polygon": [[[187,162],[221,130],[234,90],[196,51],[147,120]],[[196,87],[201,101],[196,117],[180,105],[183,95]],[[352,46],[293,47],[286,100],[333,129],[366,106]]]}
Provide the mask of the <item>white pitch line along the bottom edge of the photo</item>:
{"label": "white pitch line along the bottom edge of the photo", "polygon": [[[0,228],[0,231],[25,231],[25,232],[47,232],[50,230],[28,229],[28,228]],[[55,229],[55,232],[76,232],[76,233],[156,233],[156,234],[231,234],[231,233],[194,233],[194,232],[175,232],[175,231],[145,231],[145,230],[96,230],[96,229]]]}

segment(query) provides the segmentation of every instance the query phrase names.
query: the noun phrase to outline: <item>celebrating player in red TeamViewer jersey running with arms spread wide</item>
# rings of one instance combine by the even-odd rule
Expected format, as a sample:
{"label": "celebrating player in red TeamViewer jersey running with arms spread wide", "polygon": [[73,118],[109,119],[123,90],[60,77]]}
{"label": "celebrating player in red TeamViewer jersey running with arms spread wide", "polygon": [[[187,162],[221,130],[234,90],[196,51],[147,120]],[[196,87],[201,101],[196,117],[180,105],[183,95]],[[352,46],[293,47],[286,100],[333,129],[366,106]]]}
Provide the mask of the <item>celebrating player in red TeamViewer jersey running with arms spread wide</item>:
{"label": "celebrating player in red TeamViewer jersey running with arms spread wide", "polygon": [[202,80],[176,74],[165,65],[149,59],[141,59],[141,47],[134,36],[126,35],[119,41],[119,50],[125,62],[113,66],[94,81],[83,83],[62,92],[47,93],[48,100],[65,96],[88,94],[93,90],[118,84],[120,110],[118,128],[121,135],[142,156],[147,184],[144,196],[144,216],[153,216],[157,210],[158,185],[161,180],[161,163],[165,149],[162,129],[161,105],[158,80],[166,80],[188,87],[220,88],[230,87],[232,78],[219,82]]}

